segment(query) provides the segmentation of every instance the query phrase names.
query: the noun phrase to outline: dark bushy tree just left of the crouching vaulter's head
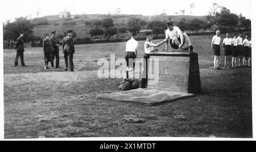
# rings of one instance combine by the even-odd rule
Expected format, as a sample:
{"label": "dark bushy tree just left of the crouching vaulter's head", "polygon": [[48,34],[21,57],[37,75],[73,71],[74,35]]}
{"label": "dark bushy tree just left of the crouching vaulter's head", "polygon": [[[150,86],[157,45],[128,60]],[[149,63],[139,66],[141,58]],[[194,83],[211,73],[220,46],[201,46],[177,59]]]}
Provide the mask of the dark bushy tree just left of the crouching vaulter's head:
{"label": "dark bushy tree just left of the crouching vaulter's head", "polygon": [[152,30],[152,33],[158,36],[159,33],[163,33],[166,28],[166,24],[160,20],[153,20],[147,24],[147,28]]}

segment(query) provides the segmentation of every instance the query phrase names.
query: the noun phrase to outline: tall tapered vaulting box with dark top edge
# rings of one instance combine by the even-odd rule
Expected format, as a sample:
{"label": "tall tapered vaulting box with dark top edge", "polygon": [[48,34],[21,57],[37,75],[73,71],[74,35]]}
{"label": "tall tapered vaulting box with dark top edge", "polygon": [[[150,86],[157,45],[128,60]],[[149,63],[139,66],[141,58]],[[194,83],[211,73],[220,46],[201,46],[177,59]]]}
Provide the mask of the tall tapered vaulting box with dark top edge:
{"label": "tall tapered vaulting box with dark top edge", "polygon": [[158,80],[148,78],[148,88],[198,94],[201,91],[200,71],[198,54],[196,52],[151,52],[150,58],[158,59],[159,70],[152,74],[158,74]]}

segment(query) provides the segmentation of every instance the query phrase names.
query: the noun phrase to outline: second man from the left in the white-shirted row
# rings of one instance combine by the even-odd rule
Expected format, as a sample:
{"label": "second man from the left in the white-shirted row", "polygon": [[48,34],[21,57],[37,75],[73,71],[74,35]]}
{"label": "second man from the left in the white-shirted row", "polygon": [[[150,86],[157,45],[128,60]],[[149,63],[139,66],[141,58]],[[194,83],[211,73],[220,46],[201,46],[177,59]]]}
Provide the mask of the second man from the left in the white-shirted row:
{"label": "second man from the left in the white-shirted row", "polygon": [[[223,47],[224,47],[224,69],[226,69],[227,62],[229,63],[229,69],[231,69],[231,56],[232,56],[232,39],[229,37],[229,32],[226,33],[226,38],[223,40]],[[227,61],[228,60],[228,61]]]}

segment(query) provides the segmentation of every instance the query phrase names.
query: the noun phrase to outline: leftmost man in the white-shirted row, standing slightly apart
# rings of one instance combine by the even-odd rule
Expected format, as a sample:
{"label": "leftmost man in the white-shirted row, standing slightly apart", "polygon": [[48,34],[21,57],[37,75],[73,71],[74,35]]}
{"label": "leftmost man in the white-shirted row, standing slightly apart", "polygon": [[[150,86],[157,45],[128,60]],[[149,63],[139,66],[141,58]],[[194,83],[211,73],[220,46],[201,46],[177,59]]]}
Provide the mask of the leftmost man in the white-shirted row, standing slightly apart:
{"label": "leftmost man in the white-shirted row, standing slightly apart", "polygon": [[216,35],[212,37],[212,49],[213,49],[213,55],[214,55],[214,70],[220,70],[220,67],[218,67],[218,57],[220,56],[220,30],[216,31]]}

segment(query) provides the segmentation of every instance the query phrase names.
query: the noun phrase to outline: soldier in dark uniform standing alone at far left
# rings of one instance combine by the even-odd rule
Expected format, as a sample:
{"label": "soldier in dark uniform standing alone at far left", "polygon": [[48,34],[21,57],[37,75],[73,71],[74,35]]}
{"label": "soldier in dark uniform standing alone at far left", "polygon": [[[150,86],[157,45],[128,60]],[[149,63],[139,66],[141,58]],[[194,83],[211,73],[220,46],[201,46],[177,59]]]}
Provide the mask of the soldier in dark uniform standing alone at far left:
{"label": "soldier in dark uniform standing alone at far left", "polygon": [[26,66],[24,64],[24,40],[23,40],[24,35],[25,35],[25,33],[21,33],[17,39],[16,44],[15,44],[15,49],[16,49],[16,57],[15,57],[15,61],[14,61],[15,67],[18,67],[19,57],[20,57],[22,66]]}

